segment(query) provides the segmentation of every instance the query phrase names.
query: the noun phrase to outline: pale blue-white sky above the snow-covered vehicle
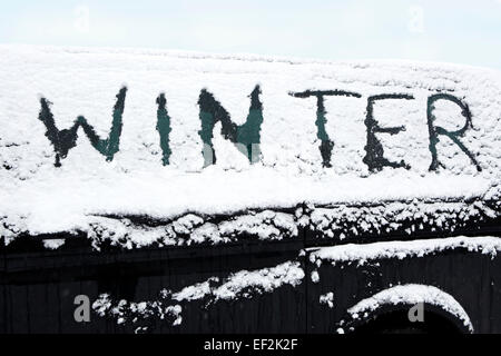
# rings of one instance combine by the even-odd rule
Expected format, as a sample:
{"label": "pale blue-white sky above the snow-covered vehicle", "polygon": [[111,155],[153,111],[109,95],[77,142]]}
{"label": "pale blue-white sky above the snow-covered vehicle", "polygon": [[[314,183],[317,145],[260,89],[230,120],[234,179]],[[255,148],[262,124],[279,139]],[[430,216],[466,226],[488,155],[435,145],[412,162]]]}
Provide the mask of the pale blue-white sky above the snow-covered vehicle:
{"label": "pale blue-white sky above the snow-covered vehicle", "polygon": [[501,0],[1,0],[0,42],[501,69]]}

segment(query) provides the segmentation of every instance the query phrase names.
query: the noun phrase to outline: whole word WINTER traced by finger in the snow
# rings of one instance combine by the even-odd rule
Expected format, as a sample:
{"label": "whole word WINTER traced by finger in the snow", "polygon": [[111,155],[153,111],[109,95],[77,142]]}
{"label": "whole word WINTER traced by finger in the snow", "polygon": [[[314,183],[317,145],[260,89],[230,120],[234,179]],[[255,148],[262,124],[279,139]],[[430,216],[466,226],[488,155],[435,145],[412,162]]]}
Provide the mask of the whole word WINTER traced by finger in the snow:
{"label": "whole word WINTER traced by finger in the snow", "polygon": [[[46,98],[41,98],[41,110],[39,119],[46,127],[46,136],[53,146],[56,152],[56,167],[61,166],[61,159],[66,158],[68,151],[76,147],[78,138],[78,129],[81,127],[87,135],[92,147],[101,155],[106,157],[107,161],[114,159],[115,154],[119,151],[121,128],[122,128],[122,113],[125,108],[127,88],[124,87],[117,95],[117,101],[112,111],[111,129],[107,138],[101,139],[90,126],[86,118],[82,116],[77,117],[73,125],[68,129],[59,130],[56,126],[53,115],[50,110],[51,102]],[[203,89],[198,98],[199,106],[199,120],[202,128],[198,135],[204,144],[203,156],[205,165],[207,167],[216,162],[216,152],[214,150],[213,138],[214,128],[217,122],[220,122],[222,135],[225,139],[233,142],[236,148],[245,155],[250,164],[259,161],[261,150],[261,126],[263,123],[263,103],[259,100],[261,89],[256,86],[252,91],[250,107],[248,116],[243,125],[236,125],[232,121],[228,111],[222,106],[219,101],[214,98],[214,95]],[[295,98],[316,98],[316,121],[317,139],[321,141],[320,154],[322,157],[322,164],[324,167],[332,167],[331,158],[332,150],[334,148],[334,140],[328,136],[326,131],[326,110],[324,101],[326,97],[343,96],[352,98],[362,98],[362,95],[352,91],[344,90],[306,90],[303,92],[289,92],[289,96]],[[376,95],[367,98],[366,117],[364,120],[366,127],[366,145],[365,156],[363,162],[369,167],[371,171],[380,171],[384,167],[391,168],[404,168],[410,169],[410,165],[404,160],[400,162],[391,161],[384,157],[384,148],[379,140],[377,135],[390,134],[397,135],[405,130],[404,126],[400,127],[382,127],[374,118],[374,103],[381,100],[413,100],[414,97],[407,93],[386,93]],[[462,128],[455,131],[450,131],[441,126],[435,125],[434,105],[439,100],[446,100],[456,105],[461,109],[461,115],[464,117],[464,125]],[[159,145],[161,148],[161,162],[164,166],[169,165],[171,155],[169,135],[171,131],[170,121],[171,118],[167,111],[167,99],[164,93],[160,93],[156,100],[158,105],[157,109],[157,126],[156,129],[159,134]],[[470,109],[465,102],[458,99],[450,93],[434,93],[428,98],[428,128],[432,161],[430,164],[430,170],[436,170],[441,162],[439,160],[439,152],[436,145],[440,137],[446,137],[454,142],[461,151],[466,155],[471,164],[481,171],[481,167],[478,164],[474,155],[463,145],[461,137],[464,136],[468,129],[472,128],[472,117]]]}

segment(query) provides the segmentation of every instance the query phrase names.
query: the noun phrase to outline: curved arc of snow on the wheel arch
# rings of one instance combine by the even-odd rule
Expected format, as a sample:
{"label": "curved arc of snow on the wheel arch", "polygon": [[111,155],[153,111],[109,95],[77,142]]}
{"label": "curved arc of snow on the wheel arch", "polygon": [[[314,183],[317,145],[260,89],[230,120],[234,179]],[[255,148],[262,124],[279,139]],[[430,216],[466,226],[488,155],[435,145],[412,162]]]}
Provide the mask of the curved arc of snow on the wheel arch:
{"label": "curved arc of snow on the wheel arch", "polygon": [[473,333],[473,325],[463,307],[445,291],[425,285],[402,285],[384,289],[370,298],[358,301],[347,312],[352,318],[357,319],[367,313],[377,310],[384,305],[416,305],[424,303],[442,308],[444,312],[460,319],[465,328]]}

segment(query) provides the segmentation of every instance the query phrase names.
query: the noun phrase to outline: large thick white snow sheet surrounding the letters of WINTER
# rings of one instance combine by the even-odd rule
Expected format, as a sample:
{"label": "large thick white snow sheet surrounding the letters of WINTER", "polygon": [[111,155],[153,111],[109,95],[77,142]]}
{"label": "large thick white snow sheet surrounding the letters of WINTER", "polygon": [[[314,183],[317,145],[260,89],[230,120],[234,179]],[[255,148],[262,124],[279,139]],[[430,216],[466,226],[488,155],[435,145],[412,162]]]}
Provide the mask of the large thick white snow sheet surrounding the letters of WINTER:
{"label": "large thick white snow sheet surrounding the letters of WINTER", "polygon": [[[500,78],[493,70],[440,63],[0,46],[0,233],[13,238],[22,233],[89,231],[96,216],[173,220],[187,214],[294,208],[302,202],[498,198]],[[128,88],[124,129],[114,160],[106,161],[80,130],[77,146],[61,160],[62,167],[56,168],[53,147],[38,120],[39,98],[53,102],[59,129],[69,128],[82,115],[105,138],[115,96],[124,83]],[[203,168],[200,90],[213,92],[232,120],[242,125],[256,85],[264,108],[261,161],[249,165],[215,131],[217,164]],[[326,97],[326,130],[335,146],[333,167],[323,168],[316,99],[295,98],[289,92],[334,89],[360,92],[362,98]],[[166,95],[171,118],[170,166],[161,165],[156,130],[155,100],[160,92]],[[436,92],[452,93],[469,105],[473,128],[461,141],[473,152],[481,172],[445,137],[438,146],[444,167],[439,174],[429,172],[426,100]],[[374,106],[381,126],[406,127],[399,135],[377,137],[385,157],[404,159],[410,170],[387,168],[371,174],[363,162],[367,97],[381,93],[414,97]],[[449,130],[464,123],[455,105],[436,102],[435,115],[436,125]],[[124,227],[118,224],[112,236]],[[217,229],[200,234],[226,236],[220,230],[225,227]],[[254,231],[259,237],[275,236],[258,227]],[[137,245],[157,239],[157,231],[148,234]]]}

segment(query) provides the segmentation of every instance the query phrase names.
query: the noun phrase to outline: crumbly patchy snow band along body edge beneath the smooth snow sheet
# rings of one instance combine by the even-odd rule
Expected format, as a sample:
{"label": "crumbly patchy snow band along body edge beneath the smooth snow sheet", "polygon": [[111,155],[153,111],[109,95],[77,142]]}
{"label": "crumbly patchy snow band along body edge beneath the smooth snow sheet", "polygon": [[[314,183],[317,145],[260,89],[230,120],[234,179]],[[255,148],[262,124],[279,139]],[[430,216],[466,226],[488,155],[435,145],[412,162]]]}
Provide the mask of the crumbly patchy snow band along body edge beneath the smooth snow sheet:
{"label": "crumbly patchy snow band along body edge beneath the smooth snow sheet", "polygon": [[[482,224],[499,216],[499,207],[483,201],[470,202],[377,202],[372,206],[298,207],[294,211],[247,210],[234,216],[210,217],[195,214],[173,220],[131,221],[124,217],[87,216],[86,224],[75,233],[85,234],[96,249],[101,244],[131,249],[144,246],[189,246],[234,243],[246,236],[258,240],[299,238],[299,229],[307,227],[321,233],[321,238],[348,243],[361,235],[416,231],[453,233],[458,228]],[[0,218],[0,222],[1,222]],[[10,244],[27,233],[22,222],[3,226],[2,236]],[[71,238],[71,235],[69,236]],[[48,240],[45,246],[59,248],[65,240]]]}

